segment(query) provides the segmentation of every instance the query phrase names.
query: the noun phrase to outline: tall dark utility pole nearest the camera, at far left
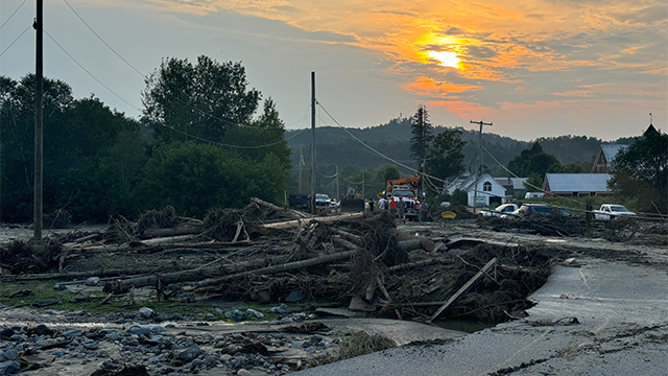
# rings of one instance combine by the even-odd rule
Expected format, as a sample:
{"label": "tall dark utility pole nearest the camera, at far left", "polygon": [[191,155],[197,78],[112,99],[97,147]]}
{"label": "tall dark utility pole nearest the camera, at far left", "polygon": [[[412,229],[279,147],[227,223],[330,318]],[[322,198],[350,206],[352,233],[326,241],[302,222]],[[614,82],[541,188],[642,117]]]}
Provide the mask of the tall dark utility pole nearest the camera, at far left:
{"label": "tall dark utility pole nearest the camera, at far left", "polygon": [[43,13],[44,1],[37,0],[37,17],[35,17],[35,22],[33,23],[33,28],[37,34],[37,44],[35,46],[35,171],[33,179],[33,228],[36,240],[42,239],[42,177],[44,173],[42,154],[44,137],[44,113],[42,108],[44,92]]}

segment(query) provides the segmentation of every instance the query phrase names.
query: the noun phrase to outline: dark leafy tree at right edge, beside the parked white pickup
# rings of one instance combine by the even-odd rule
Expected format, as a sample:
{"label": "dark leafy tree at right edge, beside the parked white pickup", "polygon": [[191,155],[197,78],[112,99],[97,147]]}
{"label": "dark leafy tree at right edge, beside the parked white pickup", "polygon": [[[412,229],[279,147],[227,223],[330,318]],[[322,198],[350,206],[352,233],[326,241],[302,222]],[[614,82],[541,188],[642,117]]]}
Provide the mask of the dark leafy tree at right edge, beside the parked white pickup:
{"label": "dark leafy tree at right edge, beside the parked white pickup", "polygon": [[668,213],[668,135],[649,128],[611,163],[608,186],[641,210]]}

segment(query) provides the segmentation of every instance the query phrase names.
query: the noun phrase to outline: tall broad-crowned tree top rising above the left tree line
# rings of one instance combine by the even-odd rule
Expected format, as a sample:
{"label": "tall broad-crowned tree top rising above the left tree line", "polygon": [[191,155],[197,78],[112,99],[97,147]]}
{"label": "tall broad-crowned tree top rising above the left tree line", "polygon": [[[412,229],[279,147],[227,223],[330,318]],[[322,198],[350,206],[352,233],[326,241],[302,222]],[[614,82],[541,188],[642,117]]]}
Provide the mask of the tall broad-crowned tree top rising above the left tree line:
{"label": "tall broad-crowned tree top rising above the left tree line", "polygon": [[168,58],[146,79],[143,119],[165,142],[221,142],[228,127],[249,124],[258,107],[260,92],[247,86],[241,63]]}

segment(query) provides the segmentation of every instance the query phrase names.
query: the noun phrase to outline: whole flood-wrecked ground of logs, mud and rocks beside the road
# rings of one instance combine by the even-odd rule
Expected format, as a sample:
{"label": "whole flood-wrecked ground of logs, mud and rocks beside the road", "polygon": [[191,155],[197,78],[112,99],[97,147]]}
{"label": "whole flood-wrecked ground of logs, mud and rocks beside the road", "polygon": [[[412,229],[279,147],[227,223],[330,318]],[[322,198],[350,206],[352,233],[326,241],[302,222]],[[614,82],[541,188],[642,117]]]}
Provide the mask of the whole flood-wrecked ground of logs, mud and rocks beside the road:
{"label": "whole flood-wrecked ground of logs, mud and rocks beside the road", "polygon": [[576,221],[397,226],[253,199],[204,220],[166,207],[14,240],[0,248],[0,375],[289,373],[402,344],[328,316],[518,320],[555,264],[642,264],[642,245],[668,237],[662,224]]}

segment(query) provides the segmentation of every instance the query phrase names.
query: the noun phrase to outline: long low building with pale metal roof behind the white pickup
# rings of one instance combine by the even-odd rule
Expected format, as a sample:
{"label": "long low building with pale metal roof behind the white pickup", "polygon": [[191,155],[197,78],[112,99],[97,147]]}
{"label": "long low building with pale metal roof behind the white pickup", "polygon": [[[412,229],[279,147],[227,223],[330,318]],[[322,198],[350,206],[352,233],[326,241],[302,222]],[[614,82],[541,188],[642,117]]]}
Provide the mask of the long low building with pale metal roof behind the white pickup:
{"label": "long low building with pale metal roof behind the white pickup", "polygon": [[610,174],[545,174],[545,197],[611,196]]}

